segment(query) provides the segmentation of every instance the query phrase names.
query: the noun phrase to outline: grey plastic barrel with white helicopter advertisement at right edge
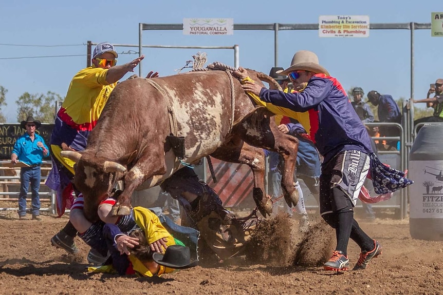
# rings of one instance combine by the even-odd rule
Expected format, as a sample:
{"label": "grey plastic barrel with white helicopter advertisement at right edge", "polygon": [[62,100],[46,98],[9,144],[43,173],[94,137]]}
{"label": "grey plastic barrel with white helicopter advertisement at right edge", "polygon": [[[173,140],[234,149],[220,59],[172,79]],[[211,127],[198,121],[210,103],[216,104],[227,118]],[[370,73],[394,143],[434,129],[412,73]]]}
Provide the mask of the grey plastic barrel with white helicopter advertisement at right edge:
{"label": "grey plastic barrel with white helicopter advertisement at right edge", "polygon": [[420,129],[409,159],[411,237],[443,241],[443,123]]}

